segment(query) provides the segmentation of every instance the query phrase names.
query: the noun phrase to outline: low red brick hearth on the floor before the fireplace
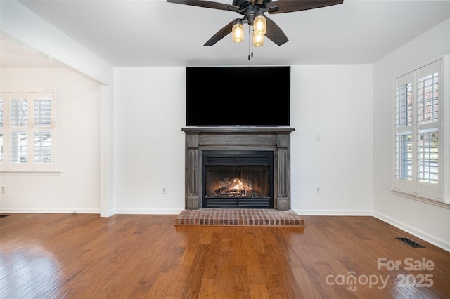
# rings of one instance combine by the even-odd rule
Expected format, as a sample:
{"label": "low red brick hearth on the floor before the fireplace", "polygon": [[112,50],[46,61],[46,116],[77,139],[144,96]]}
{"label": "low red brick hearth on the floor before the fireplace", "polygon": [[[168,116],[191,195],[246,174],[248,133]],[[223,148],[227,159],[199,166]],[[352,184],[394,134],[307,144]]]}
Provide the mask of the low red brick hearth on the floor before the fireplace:
{"label": "low red brick hearth on the floor before the fireplace", "polygon": [[175,225],[241,225],[304,228],[304,221],[294,211],[257,208],[202,208],[184,210]]}

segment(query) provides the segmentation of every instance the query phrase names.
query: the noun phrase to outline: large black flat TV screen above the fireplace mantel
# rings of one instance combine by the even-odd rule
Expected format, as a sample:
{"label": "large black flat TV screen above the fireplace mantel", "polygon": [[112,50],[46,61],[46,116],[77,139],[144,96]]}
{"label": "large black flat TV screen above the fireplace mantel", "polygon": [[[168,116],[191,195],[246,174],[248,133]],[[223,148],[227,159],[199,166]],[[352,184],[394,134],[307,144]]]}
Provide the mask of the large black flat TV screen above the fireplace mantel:
{"label": "large black flat TV screen above the fireplace mantel", "polygon": [[290,126],[290,67],[186,67],[186,126]]}

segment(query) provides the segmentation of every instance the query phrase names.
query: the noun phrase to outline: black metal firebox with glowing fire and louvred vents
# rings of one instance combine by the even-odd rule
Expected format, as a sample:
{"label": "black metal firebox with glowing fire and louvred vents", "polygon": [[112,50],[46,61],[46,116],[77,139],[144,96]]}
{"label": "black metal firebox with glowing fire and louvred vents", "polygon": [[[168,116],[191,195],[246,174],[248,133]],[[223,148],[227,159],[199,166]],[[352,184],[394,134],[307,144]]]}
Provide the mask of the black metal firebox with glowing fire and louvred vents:
{"label": "black metal firebox with glowing fire and louvred vents", "polygon": [[274,152],[202,153],[203,208],[274,208]]}

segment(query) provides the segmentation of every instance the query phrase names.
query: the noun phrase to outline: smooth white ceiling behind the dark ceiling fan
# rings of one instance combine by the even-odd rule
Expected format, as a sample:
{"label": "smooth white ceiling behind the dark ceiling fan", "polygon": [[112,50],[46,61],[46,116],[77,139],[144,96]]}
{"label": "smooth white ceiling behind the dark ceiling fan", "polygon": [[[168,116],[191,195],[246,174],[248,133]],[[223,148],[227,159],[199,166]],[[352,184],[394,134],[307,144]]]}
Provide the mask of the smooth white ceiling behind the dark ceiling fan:
{"label": "smooth white ceiling behind the dark ceiling fan", "polygon": [[[231,34],[214,46],[203,46],[224,25],[241,17],[236,12],[165,0],[18,1],[113,67],[373,63],[450,18],[450,0],[344,0],[326,8],[266,14],[289,41],[276,46],[266,39],[264,46],[253,49],[249,61],[248,40],[234,44]],[[25,57],[37,58],[34,63],[39,66],[55,66],[45,55],[2,40],[2,67],[23,65]]]}

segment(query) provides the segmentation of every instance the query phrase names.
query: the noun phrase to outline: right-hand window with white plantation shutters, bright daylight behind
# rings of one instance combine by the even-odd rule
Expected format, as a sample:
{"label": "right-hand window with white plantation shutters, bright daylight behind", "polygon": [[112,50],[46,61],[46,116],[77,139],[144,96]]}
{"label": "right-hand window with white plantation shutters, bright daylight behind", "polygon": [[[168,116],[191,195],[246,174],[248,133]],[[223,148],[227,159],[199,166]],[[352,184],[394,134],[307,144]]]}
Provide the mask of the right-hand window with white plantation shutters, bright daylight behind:
{"label": "right-hand window with white plantation shutters, bright daylight behind", "polygon": [[394,190],[439,201],[444,199],[444,170],[448,172],[443,82],[442,60],[394,80]]}

